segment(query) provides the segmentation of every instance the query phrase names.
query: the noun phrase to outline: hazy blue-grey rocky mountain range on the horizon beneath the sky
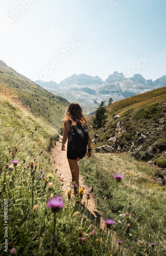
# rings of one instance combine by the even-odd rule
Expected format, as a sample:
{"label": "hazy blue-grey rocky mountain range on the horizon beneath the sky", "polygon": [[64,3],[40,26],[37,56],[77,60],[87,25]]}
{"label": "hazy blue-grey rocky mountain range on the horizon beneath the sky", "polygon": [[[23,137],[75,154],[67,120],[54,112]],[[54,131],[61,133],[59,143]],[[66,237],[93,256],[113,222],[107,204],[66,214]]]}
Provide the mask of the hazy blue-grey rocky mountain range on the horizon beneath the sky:
{"label": "hazy blue-grey rocky mountain range on the horizon beneath the sky", "polygon": [[77,101],[81,104],[84,113],[88,115],[96,110],[102,100],[108,103],[110,97],[113,101],[117,101],[165,87],[166,75],[153,81],[146,80],[141,74],[126,78],[123,73],[115,71],[105,81],[99,76],[73,74],[59,84],[54,81],[37,80],[35,82],[49,92],[66,98],[69,102]]}

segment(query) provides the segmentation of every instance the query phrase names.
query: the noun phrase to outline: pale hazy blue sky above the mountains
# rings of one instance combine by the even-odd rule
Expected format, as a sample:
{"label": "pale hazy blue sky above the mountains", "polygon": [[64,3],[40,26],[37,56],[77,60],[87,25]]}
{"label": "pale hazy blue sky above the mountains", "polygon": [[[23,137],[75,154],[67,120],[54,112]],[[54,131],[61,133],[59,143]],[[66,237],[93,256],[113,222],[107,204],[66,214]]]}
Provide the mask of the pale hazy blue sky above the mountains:
{"label": "pale hazy blue sky above the mountains", "polygon": [[165,0],[0,0],[0,59],[32,80],[166,74]]}

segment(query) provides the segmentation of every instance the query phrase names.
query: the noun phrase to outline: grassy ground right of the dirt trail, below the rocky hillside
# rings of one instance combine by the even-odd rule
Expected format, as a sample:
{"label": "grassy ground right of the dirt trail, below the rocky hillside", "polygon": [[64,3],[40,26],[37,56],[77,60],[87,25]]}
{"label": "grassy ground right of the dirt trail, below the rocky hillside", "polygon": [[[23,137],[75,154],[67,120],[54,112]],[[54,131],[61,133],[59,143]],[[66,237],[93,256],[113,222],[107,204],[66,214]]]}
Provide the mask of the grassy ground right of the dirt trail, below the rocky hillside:
{"label": "grassy ground right of the dirt trail, below the rocky hillside", "polygon": [[[166,255],[166,188],[153,180],[159,170],[127,155],[95,153],[86,163],[81,162],[80,169],[86,183],[93,185],[99,210],[105,218],[115,220],[119,239],[125,238],[127,255]],[[124,177],[118,186],[115,174]],[[127,236],[126,223],[130,223]]]}

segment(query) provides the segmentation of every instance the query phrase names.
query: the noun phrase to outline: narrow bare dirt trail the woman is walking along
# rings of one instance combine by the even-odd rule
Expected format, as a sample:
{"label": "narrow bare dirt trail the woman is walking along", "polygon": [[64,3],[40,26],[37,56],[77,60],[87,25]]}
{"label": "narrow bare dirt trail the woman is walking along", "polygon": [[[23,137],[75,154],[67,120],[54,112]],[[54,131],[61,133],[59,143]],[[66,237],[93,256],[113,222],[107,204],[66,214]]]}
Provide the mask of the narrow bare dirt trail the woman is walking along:
{"label": "narrow bare dirt trail the woman is walking along", "polygon": [[[70,189],[71,187],[70,184],[71,184],[72,177],[71,177],[71,171],[70,171],[70,167],[69,167],[67,156],[66,156],[66,151],[62,151],[61,146],[62,146],[62,142],[57,142],[56,146],[52,149],[53,159],[55,160],[53,167],[58,168],[57,174],[56,174],[57,176],[60,177],[60,173],[61,173],[61,177],[64,180],[63,182],[64,194],[66,194],[67,196],[67,189]],[[66,145],[66,148],[67,148],[67,145]],[[84,179],[80,174],[79,174],[79,185],[80,187],[84,188],[84,196],[82,201],[86,201],[86,204],[87,204],[86,197],[87,197],[87,194],[89,193],[89,187],[85,185]],[[73,197],[74,194],[71,196]],[[101,217],[101,215],[99,214],[99,211],[96,208],[97,207],[96,207],[95,200],[92,196],[90,196],[90,200],[88,200],[86,215],[89,218],[91,214],[91,219],[93,220],[96,219],[96,224],[103,227],[104,219]]]}

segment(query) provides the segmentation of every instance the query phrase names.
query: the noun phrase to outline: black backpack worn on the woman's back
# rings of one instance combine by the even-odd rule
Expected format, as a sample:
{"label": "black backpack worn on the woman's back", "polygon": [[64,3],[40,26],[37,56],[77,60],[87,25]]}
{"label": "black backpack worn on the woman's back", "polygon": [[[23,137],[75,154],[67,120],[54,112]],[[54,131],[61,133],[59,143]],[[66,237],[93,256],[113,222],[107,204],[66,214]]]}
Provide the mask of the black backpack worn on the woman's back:
{"label": "black backpack worn on the woman's back", "polygon": [[88,145],[88,130],[84,124],[76,124],[72,126],[70,141],[73,151],[81,152],[87,148]]}

